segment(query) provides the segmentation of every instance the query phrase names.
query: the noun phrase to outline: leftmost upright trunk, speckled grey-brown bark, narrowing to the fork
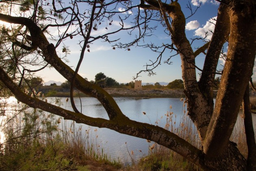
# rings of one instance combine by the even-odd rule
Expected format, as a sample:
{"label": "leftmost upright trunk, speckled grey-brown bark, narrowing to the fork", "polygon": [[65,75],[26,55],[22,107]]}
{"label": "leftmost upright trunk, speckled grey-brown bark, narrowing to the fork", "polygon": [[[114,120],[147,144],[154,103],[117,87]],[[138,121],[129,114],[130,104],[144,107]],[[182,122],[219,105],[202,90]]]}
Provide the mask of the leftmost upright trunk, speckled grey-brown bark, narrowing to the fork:
{"label": "leftmost upright trunk, speckled grey-brown bark, narrowing to the fork", "polygon": [[185,34],[185,17],[178,2],[171,2],[171,8],[166,11],[172,19],[171,40],[178,49],[182,61],[182,78],[184,81],[184,93],[187,97],[188,115],[197,127],[200,138],[203,140],[210,120],[208,104],[202,100],[203,95],[197,84],[195,72],[195,57],[193,49]]}

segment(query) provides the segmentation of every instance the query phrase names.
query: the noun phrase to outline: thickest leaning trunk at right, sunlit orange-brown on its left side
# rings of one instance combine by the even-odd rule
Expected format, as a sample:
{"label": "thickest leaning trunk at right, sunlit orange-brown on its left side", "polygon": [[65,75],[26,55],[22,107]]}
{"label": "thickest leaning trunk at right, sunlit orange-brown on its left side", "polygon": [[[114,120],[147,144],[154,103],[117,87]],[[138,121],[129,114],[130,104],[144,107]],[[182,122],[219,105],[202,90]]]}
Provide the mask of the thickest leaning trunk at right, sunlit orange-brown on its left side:
{"label": "thickest leaning trunk at right, sunlit orange-brown on its left side", "polygon": [[221,154],[228,145],[256,55],[255,1],[232,1],[229,15],[227,60],[204,141],[204,153],[208,157]]}

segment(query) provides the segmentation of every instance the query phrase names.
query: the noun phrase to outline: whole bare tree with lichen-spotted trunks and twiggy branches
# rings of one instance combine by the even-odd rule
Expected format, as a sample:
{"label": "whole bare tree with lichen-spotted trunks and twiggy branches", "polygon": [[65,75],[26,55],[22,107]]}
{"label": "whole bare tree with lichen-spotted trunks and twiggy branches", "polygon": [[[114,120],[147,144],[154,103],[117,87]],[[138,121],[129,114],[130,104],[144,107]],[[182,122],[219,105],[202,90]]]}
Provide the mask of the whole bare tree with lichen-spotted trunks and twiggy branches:
{"label": "whole bare tree with lichen-spotted trunks and twiggy branches", "polygon": [[[141,0],[138,5],[134,5],[132,0],[70,0],[68,4],[59,0],[52,1],[52,3],[34,1],[32,4],[29,4],[28,1],[2,1],[2,6],[8,11],[1,11],[0,20],[12,23],[13,27],[11,30],[2,28],[1,32],[1,48],[7,49],[8,55],[1,58],[0,80],[17,100],[33,108],[40,108],[77,123],[105,127],[119,133],[155,141],[174,150],[202,169],[214,171],[256,170],[256,153],[249,152],[246,160],[234,143],[229,141],[244,99],[247,118],[245,122],[247,146],[248,149],[255,149],[254,131],[251,127],[252,119],[248,117],[250,115],[249,102],[245,90],[252,76],[256,55],[256,1],[217,1],[220,2],[220,6],[213,37],[210,42],[196,51],[193,51],[191,43],[185,35],[186,17],[178,0],[171,0],[170,3],[160,0]],[[20,6],[20,11],[15,11],[13,6]],[[81,9],[81,6],[85,7]],[[118,10],[119,7],[122,10]],[[137,15],[130,15],[131,12],[135,14],[135,11]],[[14,16],[13,13],[16,15]],[[127,13],[127,15],[122,18],[118,15],[119,13]],[[193,15],[193,13],[191,14]],[[112,25],[113,18],[119,19],[119,29],[91,36],[92,30],[97,31],[102,27],[108,30],[109,25]],[[132,20],[133,25],[126,27],[125,20]],[[154,43],[140,44],[141,40],[150,36],[156,29],[155,26],[150,26],[150,21],[157,21],[165,27],[165,32],[171,38],[170,44],[163,46],[156,46]],[[71,30],[72,25],[73,29]],[[59,30],[59,37],[55,44],[49,42],[51,38],[46,38],[46,35],[50,34],[48,32],[50,27],[56,27]],[[78,74],[85,50],[89,51],[91,44],[96,40],[117,42],[118,39],[112,39],[111,35],[121,31],[127,31],[128,34],[135,35],[135,38],[130,42],[116,43],[113,48],[124,48],[130,51],[131,46],[144,46],[159,53],[156,62],[152,61],[152,64],[147,65],[145,72],[149,72],[149,74],[154,74],[152,69],[161,62],[164,51],[176,51],[175,55],[180,56],[187,114],[197,127],[203,144],[202,149],[195,148],[189,142],[163,128],[130,120],[121,112],[113,98],[104,89],[91,84]],[[56,49],[62,42],[73,39],[75,36],[80,38],[81,54],[74,71],[59,57]],[[52,38],[54,39],[53,36]],[[229,46],[226,64],[214,107],[212,92],[215,75],[219,74],[216,73],[217,61],[222,46],[227,40]],[[11,54],[12,47],[20,48],[22,57],[26,57],[26,60],[21,60],[22,57]],[[197,82],[195,57],[204,53],[206,49],[208,50],[204,68],[201,70],[200,81]],[[67,48],[64,46],[62,51],[66,52]],[[7,60],[13,62],[11,64],[4,63]],[[75,112],[53,106],[23,93],[22,84],[19,83],[22,82],[24,73],[28,72],[27,63],[32,64],[38,60],[41,60],[38,65],[43,65],[42,68],[47,64],[54,67],[71,82],[71,88],[76,87],[83,93],[97,98],[104,106],[109,119],[91,118],[80,113],[76,109],[73,98],[71,101]],[[170,63],[169,59],[166,60],[166,63]],[[9,65],[15,66],[17,72],[9,72]],[[12,77],[18,79],[13,80]],[[73,97],[72,91],[71,97]]]}

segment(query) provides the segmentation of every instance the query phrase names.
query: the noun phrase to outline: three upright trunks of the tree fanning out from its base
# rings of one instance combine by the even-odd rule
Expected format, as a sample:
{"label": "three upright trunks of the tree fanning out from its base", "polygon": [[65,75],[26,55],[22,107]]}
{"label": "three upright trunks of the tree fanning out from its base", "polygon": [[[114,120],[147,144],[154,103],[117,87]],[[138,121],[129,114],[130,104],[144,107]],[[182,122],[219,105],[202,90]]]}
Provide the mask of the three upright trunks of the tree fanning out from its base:
{"label": "three upright trunks of the tree fanning out from its base", "polygon": [[[209,70],[206,70],[204,73],[208,75],[208,78],[207,76],[205,77],[205,80],[208,82],[206,87],[203,87],[200,91],[195,74],[195,57],[193,56],[189,41],[186,39],[185,33],[183,32],[183,13],[179,11],[180,8],[176,2],[172,2],[171,5],[174,6],[169,12],[169,16],[173,19],[173,32],[171,34],[172,42],[179,50],[182,61],[182,78],[184,80],[184,93],[187,97],[188,114],[197,127],[201,140],[204,143],[203,148],[206,154],[204,162],[205,164],[207,163],[206,165],[208,166],[204,169],[246,170],[245,158],[234,144],[229,143],[229,138],[236,122],[245,87],[249,81],[254,65],[255,39],[252,35],[255,33],[255,28],[254,26],[250,27],[248,25],[246,18],[249,17],[249,13],[247,13],[246,16],[243,15],[243,17],[241,17],[241,11],[237,11],[237,9],[233,8],[234,5],[237,4],[231,4],[229,11],[231,30],[228,61],[225,65],[221,81],[222,83],[219,86],[220,89],[218,91],[216,106],[213,112],[213,106],[208,103],[208,96],[204,96],[202,93],[211,93],[210,91],[212,91],[210,86],[213,85],[215,74],[209,72],[214,72],[215,67],[217,66],[216,59],[218,59],[219,55],[216,54],[219,54],[221,46],[225,42],[224,39],[229,32],[229,25],[221,28],[223,32],[220,33],[220,36],[223,37],[220,41],[213,38],[215,42],[212,42],[209,45],[209,53],[213,53],[212,48],[214,49],[216,46],[218,52],[215,52],[215,54],[212,55],[213,57],[211,57],[211,59],[214,60],[214,64],[213,67],[209,68]],[[228,17],[226,17],[226,7],[221,5],[220,10],[221,8],[223,14],[220,14],[221,16],[219,17],[219,20],[225,22],[228,20]],[[218,21],[217,29],[219,26]],[[253,19],[252,23],[255,23]],[[247,27],[244,28],[244,26],[242,26],[243,24],[247,24]],[[220,36],[216,35],[217,39],[220,38]],[[243,45],[243,42],[245,41],[247,41],[248,44]],[[250,43],[252,43],[252,46],[247,46]],[[243,54],[248,54],[248,51],[249,56],[247,57],[247,60],[245,60]],[[208,55],[210,56],[210,54]],[[211,117],[212,114],[213,117]],[[210,126],[208,127],[209,122]],[[208,132],[206,133],[206,131]]]}

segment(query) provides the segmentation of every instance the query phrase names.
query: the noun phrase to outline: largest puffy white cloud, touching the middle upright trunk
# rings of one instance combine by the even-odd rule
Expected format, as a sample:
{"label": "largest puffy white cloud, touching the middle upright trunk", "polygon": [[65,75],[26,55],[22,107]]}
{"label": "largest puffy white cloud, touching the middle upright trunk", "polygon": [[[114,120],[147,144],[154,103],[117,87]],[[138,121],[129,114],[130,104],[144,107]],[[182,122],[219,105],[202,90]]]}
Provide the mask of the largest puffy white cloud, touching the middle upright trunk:
{"label": "largest puffy white cloud, touching the middle upright trunk", "polygon": [[[217,19],[217,17],[213,17],[213,19]],[[200,36],[202,38],[205,37],[205,33],[208,32],[208,36],[206,37],[206,39],[211,40],[212,36],[213,36],[213,31],[215,28],[215,25],[213,23],[216,23],[215,20],[213,19],[209,19],[206,22],[206,25],[204,25],[204,27],[200,27],[197,30],[195,30],[195,36]],[[212,32],[210,32],[212,31]]]}

